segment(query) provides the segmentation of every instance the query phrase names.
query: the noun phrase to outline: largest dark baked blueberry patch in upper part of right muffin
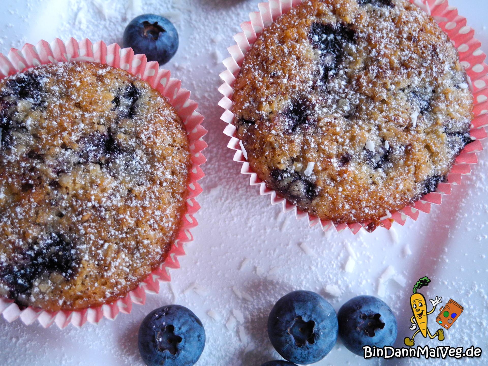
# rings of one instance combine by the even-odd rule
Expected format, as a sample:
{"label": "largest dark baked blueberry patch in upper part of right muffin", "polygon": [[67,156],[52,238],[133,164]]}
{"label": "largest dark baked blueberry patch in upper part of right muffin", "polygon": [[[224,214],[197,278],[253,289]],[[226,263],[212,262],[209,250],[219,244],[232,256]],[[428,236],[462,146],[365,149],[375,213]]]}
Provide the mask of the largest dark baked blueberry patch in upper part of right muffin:
{"label": "largest dark baked blueberry patch in upper part of right muffin", "polygon": [[346,43],[354,41],[354,30],[342,23],[324,24],[315,22],[310,27],[308,39],[314,49],[320,52],[321,79],[323,82],[333,77],[344,56]]}

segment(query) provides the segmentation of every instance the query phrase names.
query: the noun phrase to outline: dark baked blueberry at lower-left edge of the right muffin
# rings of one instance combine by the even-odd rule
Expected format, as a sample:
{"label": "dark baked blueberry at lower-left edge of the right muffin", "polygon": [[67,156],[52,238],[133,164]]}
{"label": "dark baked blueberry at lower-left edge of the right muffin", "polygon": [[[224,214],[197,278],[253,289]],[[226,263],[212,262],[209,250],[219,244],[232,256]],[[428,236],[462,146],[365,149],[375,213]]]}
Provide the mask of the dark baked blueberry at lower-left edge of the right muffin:
{"label": "dark baked blueberry at lower-left edge of the right muffin", "polygon": [[293,203],[310,203],[317,197],[315,184],[292,168],[274,169],[271,172],[271,178],[276,190]]}

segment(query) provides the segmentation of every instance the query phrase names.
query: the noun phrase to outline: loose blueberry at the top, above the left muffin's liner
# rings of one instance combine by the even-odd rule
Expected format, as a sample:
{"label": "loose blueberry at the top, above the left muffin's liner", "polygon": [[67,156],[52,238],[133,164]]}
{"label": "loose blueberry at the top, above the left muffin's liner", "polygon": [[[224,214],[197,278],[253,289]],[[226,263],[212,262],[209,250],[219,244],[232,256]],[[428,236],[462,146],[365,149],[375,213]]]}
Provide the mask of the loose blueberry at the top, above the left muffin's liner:
{"label": "loose blueberry at the top, above the left muffin's liner", "polygon": [[123,46],[143,53],[147,61],[168,62],[178,50],[178,32],[169,20],[154,14],[134,18],[123,32]]}

